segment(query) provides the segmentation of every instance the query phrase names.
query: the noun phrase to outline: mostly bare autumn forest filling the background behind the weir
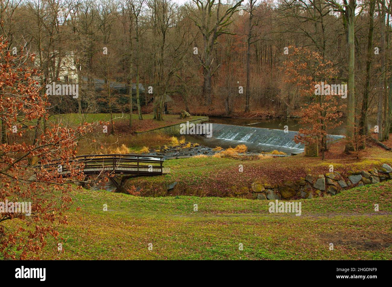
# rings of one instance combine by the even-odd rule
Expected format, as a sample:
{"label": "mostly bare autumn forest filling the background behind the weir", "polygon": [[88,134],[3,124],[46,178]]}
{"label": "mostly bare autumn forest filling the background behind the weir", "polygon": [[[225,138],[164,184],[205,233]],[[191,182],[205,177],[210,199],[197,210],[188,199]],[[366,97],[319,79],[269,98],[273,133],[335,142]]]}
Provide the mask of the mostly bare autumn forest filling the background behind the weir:
{"label": "mostly bare autumn forest filling the background behind the weir", "polygon": [[[50,96],[51,114],[133,110],[142,119],[143,110],[163,120],[169,95],[169,113],[301,116],[301,107],[318,102],[304,85],[325,81],[348,86],[335,112],[348,118],[348,129],[367,134],[374,117],[383,140],[392,112],[391,3],[3,0],[0,17],[8,49],[36,54],[42,86],[58,82],[72,56],[80,96]],[[310,63],[297,53],[296,64],[307,67],[293,82],[288,70],[296,48],[316,56]],[[327,62],[334,71],[322,78],[318,67]],[[99,93],[94,79],[103,81]],[[123,83],[126,93],[113,91],[113,83]]]}

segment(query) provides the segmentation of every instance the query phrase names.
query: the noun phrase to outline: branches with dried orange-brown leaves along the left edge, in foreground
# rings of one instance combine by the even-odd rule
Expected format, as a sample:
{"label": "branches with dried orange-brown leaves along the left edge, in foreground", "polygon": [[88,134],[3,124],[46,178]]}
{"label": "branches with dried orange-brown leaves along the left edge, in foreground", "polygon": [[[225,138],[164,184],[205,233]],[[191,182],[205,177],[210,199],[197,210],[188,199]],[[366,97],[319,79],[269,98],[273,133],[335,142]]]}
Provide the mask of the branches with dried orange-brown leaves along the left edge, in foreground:
{"label": "branches with dried orange-brown leaves along the left edge, in foreground", "polygon": [[33,68],[34,55],[11,56],[6,47],[0,37],[0,203],[31,202],[31,215],[2,210],[0,258],[27,259],[38,256],[47,236],[58,236],[56,224],[67,223],[62,211],[71,203],[71,181],[82,180],[81,167],[71,158],[92,124],[44,125],[49,104],[40,87],[45,83],[38,82],[41,76]]}

